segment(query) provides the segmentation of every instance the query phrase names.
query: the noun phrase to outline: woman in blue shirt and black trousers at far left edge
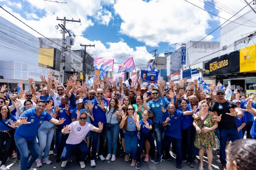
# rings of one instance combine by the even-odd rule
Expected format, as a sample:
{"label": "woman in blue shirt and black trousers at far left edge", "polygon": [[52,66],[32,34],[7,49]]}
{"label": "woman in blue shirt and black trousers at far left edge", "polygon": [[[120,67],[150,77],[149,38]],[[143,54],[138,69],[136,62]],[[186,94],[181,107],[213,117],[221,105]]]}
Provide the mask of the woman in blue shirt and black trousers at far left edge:
{"label": "woman in blue shirt and black trousers at far left edge", "polygon": [[11,150],[13,136],[14,136],[14,127],[16,118],[10,114],[9,107],[6,105],[0,106],[0,151],[2,151],[3,143],[6,141],[4,147],[4,154],[1,156],[1,170],[7,170],[5,163],[8,158],[8,154]]}

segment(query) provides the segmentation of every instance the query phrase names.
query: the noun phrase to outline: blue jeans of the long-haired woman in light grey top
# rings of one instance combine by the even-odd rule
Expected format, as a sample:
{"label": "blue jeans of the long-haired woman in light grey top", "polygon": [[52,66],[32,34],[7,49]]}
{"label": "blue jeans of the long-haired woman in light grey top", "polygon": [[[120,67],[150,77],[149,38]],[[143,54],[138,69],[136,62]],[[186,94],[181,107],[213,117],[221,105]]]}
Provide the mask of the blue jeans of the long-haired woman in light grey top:
{"label": "blue jeans of the long-haired woman in light grey top", "polygon": [[108,154],[111,154],[112,144],[113,144],[113,155],[117,152],[117,138],[119,135],[119,123],[111,124],[111,129],[107,130],[108,139]]}

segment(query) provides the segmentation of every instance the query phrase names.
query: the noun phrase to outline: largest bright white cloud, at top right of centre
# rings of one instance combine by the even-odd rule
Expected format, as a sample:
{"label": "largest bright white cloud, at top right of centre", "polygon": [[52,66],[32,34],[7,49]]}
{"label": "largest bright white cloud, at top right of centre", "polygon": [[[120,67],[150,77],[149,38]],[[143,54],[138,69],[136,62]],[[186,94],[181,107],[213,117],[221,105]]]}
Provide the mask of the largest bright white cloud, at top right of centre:
{"label": "largest bright white cloud, at top right of centre", "polygon": [[[204,8],[203,2],[192,0],[191,3]],[[209,28],[210,15],[186,1],[117,0],[114,9],[123,20],[120,32],[149,46],[199,40],[207,35]],[[208,36],[204,41],[211,38]]]}

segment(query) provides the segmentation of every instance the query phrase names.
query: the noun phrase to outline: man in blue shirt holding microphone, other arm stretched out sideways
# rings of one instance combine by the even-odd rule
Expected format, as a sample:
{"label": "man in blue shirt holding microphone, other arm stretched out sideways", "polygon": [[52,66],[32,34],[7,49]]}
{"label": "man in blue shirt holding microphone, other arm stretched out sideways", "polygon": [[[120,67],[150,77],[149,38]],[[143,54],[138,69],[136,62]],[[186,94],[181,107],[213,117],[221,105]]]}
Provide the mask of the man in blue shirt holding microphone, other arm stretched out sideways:
{"label": "man in blue shirt holding microphone, other arm stretched out sideways", "polygon": [[181,149],[181,118],[185,115],[190,115],[196,113],[197,108],[194,106],[192,111],[179,111],[175,109],[174,104],[168,105],[168,112],[163,114],[162,125],[166,127],[165,137],[164,137],[164,149],[165,157],[163,160],[171,159],[170,155],[170,145],[171,143],[176,146],[176,169],[181,169],[182,163],[182,149]]}

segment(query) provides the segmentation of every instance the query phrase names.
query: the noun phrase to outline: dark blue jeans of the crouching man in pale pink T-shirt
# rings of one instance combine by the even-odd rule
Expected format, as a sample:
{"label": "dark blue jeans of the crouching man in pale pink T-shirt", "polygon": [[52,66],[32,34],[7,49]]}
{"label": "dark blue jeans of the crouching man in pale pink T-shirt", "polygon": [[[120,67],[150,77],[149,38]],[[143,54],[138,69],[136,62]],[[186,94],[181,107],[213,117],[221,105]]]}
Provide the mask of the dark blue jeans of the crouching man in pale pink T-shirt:
{"label": "dark blue jeans of the crouching man in pale pink T-shirt", "polygon": [[87,144],[84,140],[82,140],[79,144],[75,144],[75,145],[72,145],[72,144],[66,144],[64,149],[63,149],[63,152],[61,154],[61,157],[60,159],[62,161],[66,161],[68,160],[71,152],[74,150],[74,149],[80,149],[81,150],[81,157],[80,157],[80,162],[82,161],[85,161],[85,158],[87,157],[88,155],[88,152],[89,152],[89,149],[87,147]]}

